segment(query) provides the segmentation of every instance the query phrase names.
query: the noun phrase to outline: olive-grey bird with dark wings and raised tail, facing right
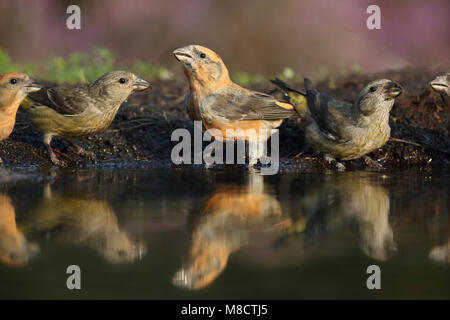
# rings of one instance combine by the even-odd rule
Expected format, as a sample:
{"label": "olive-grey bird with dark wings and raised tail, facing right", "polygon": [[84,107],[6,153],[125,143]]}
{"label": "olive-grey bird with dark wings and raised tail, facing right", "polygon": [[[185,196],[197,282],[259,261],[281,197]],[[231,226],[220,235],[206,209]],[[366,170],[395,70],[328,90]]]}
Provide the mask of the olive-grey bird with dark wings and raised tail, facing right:
{"label": "olive-grey bird with dark wings and raised tail, facing right", "polygon": [[[316,150],[325,154],[328,162],[336,164],[338,169],[345,166],[336,162],[358,159],[381,148],[390,137],[389,112],[394,100],[402,92],[399,84],[391,80],[375,80],[365,86],[355,103],[335,100],[326,93],[314,89],[312,82],[305,79],[306,93],[293,91],[279,80],[275,81],[290,97],[305,96],[305,137]],[[300,106],[301,107],[301,106]],[[299,109],[298,106],[296,106]],[[380,165],[365,156],[366,163]]]}

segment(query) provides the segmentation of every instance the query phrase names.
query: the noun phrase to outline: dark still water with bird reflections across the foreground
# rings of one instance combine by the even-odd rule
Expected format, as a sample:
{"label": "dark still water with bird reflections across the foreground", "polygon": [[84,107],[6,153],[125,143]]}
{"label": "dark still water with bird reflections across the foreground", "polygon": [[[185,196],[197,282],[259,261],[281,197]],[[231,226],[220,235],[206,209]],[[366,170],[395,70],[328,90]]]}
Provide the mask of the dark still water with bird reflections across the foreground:
{"label": "dark still water with bird reflections across the foreground", "polygon": [[449,299],[449,186],[445,171],[186,168],[6,185],[0,298]]}

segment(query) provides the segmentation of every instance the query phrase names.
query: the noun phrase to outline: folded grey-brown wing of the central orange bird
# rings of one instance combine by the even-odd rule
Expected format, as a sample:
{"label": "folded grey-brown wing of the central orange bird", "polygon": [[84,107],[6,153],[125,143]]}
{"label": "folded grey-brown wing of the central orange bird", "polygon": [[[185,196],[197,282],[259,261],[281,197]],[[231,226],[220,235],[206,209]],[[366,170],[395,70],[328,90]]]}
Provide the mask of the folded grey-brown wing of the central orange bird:
{"label": "folded grey-brown wing of the central orange bird", "polygon": [[215,94],[211,111],[228,120],[280,120],[296,115],[294,107],[265,93]]}

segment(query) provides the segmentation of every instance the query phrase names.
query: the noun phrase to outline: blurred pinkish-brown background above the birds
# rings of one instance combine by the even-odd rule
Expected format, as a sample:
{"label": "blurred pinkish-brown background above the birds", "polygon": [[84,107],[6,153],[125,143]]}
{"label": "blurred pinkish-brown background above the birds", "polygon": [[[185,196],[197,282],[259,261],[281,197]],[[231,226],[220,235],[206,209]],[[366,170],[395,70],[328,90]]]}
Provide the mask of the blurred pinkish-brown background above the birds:
{"label": "blurred pinkish-brown background above the birds", "polygon": [[[66,8],[81,7],[81,30]],[[366,8],[381,7],[381,30]],[[218,52],[231,72],[263,76],[289,67],[318,77],[450,65],[448,0],[1,0],[0,48],[16,63],[105,47],[123,63],[174,66],[186,44]]]}

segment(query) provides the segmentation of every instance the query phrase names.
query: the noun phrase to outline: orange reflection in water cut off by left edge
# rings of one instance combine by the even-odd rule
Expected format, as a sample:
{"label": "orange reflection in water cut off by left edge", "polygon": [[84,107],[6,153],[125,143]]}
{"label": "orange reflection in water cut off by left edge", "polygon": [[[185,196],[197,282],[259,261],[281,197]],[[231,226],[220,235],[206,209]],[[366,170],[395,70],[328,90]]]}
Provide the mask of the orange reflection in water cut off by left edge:
{"label": "orange reflection in water cut off by left edge", "polygon": [[11,198],[0,194],[0,263],[11,267],[24,266],[38,251],[38,245],[28,242],[17,227]]}

